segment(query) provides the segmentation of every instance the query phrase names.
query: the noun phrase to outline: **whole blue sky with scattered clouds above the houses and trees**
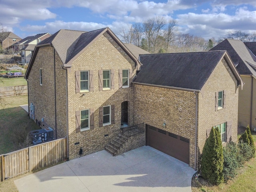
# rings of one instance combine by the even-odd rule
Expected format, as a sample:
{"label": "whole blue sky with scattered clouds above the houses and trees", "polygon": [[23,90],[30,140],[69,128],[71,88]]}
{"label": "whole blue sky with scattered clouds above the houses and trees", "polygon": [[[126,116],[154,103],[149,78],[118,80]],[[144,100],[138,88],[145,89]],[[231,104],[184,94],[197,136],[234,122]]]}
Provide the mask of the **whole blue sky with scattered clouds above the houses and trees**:
{"label": "whole blue sky with scattered clouds above the houses and trees", "polygon": [[107,26],[117,34],[156,16],[175,19],[180,32],[205,39],[256,32],[256,0],[0,0],[0,23],[21,38]]}

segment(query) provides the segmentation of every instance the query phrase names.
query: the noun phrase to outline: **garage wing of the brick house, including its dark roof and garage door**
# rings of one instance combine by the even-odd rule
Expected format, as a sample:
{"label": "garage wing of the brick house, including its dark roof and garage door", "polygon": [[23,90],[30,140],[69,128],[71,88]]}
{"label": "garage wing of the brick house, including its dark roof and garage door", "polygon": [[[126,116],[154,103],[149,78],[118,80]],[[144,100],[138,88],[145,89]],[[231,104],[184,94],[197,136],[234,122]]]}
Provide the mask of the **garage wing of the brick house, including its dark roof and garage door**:
{"label": "garage wing of the brick house, including its dark roof and garage door", "polygon": [[226,51],[140,55],[140,62],[134,110],[147,125],[146,145],[196,169],[212,127],[221,127],[223,143],[236,142],[244,83]]}

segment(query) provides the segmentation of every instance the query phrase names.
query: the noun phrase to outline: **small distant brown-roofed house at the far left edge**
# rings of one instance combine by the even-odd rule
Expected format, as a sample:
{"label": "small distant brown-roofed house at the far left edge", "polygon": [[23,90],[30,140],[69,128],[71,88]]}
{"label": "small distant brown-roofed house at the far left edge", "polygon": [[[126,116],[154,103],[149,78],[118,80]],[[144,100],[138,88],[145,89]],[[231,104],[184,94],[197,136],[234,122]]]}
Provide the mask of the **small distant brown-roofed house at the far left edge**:
{"label": "small distant brown-roofed house at the far left edge", "polygon": [[3,49],[12,48],[12,45],[22,40],[19,36],[13,32],[2,32],[0,33],[0,44]]}

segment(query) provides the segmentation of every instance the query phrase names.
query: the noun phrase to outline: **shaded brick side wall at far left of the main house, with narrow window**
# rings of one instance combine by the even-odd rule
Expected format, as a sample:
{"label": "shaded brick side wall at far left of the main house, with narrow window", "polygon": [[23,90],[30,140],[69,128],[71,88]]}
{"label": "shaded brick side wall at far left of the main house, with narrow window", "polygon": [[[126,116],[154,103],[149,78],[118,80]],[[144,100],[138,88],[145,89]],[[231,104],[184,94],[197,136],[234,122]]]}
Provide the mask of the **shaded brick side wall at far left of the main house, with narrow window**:
{"label": "shaded brick side wall at far left of the main house, with narrow window", "polygon": [[[55,99],[54,99],[54,48],[42,47],[28,77],[28,104],[35,106],[34,121],[42,120],[54,129],[55,134]],[[39,69],[42,68],[42,86],[39,82]]]}

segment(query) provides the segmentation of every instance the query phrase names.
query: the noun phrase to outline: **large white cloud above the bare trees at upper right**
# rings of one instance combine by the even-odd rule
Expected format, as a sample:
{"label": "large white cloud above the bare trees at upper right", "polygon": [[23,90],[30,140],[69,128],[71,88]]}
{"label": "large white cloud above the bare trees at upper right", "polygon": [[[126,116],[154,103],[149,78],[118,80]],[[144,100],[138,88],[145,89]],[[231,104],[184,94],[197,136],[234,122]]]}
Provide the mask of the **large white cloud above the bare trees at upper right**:
{"label": "large white cloud above the bare trees at upper right", "polygon": [[178,15],[178,24],[184,33],[190,33],[205,38],[224,36],[230,30],[256,32],[256,11],[238,8],[234,16],[224,13],[212,14],[181,14]]}

